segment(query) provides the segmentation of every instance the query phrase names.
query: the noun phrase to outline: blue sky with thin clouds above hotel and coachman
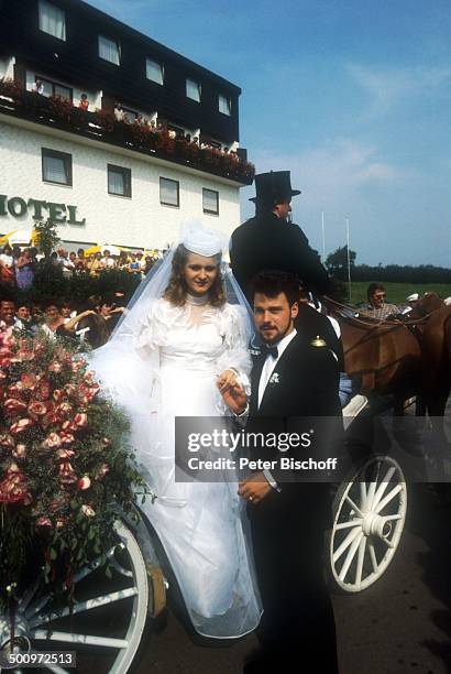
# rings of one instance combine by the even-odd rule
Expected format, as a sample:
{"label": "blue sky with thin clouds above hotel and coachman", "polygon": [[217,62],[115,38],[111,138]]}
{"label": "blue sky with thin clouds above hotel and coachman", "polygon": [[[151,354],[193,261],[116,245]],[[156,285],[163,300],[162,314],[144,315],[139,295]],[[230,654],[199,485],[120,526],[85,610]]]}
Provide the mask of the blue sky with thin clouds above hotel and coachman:
{"label": "blue sky with thin clouds above hotel and coachman", "polygon": [[[451,267],[449,0],[90,0],[239,85],[241,145],[358,263]],[[242,218],[253,214],[242,191]]]}

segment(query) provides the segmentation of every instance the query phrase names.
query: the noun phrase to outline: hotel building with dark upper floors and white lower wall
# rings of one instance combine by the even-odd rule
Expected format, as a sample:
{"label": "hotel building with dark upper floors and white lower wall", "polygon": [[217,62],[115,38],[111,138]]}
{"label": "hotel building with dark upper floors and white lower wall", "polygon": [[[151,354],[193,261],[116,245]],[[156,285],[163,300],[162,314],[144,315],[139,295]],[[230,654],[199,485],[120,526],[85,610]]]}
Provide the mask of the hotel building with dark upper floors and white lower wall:
{"label": "hotel building with dark upper floors and white lower wall", "polygon": [[[252,182],[238,143],[240,90],[79,0],[32,2],[31,52],[15,35],[0,54],[0,233],[19,230],[26,242],[34,222],[51,219],[70,250],[163,249],[189,221],[230,235],[240,187]],[[51,10],[43,30],[40,12]],[[7,30],[25,21],[20,12],[13,2],[1,10]],[[111,67],[99,42],[103,52],[77,56],[75,76],[67,43],[76,21],[89,21],[94,48],[96,35],[114,33],[119,63]],[[144,84],[123,85],[128,46],[131,73],[145,63]]]}

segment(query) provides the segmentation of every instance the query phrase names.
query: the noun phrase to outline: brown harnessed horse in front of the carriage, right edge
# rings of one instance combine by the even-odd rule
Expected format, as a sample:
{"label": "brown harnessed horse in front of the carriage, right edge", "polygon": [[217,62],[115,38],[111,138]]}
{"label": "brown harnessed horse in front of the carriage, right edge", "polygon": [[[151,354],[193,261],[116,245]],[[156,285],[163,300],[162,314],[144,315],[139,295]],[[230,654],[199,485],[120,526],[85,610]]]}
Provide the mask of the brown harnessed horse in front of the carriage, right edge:
{"label": "brown harnessed horse in front of the carriage, right edge", "polygon": [[404,400],[416,393],[417,413],[443,416],[451,389],[450,306],[429,294],[407,318],[376,322],[349,316],[351,307],[344,316],[333,301],[326,304],[340,323],[345,371],[362,378],[363,394],[392,394],[400,413]]}

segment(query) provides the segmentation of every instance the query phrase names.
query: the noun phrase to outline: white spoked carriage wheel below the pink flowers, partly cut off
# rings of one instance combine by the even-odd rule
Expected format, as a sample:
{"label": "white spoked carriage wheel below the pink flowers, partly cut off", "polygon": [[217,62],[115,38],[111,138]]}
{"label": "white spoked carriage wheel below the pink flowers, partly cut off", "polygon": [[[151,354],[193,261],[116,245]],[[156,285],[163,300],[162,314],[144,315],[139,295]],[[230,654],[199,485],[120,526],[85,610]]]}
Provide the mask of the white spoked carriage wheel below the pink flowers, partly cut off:
{"label": "white spoked carriage wheel below the pink flowers, partly cut off", "polygon": [[[108,661],[108,674],[125,674],[129,671],[146,624],[150,583],[143,555],[132,531],[120,521],[116,522],[114,530],[118,544],[108,552],[109,563],[113,568],[112,578],[108,579],[105,576],[105,572],[100,568],[100,559],[81,569],[74,577],[76,596],[77,588],[82,583],[88,584],[88,588],[84,589],[85,595],[88,591],[90,596],[84,596],[82,600],[76,601],[72,610],[66,607],[53,612],[48,608],[50,596],[40,593],[38,585],[24,594],[15,615],[14,635],[24,638],[24,641],[31,644],[32,651],[77,651],[79,646],[92,646],[96,652],[95,657],[107,655],[105,660]],[[100,584],[98,579],[92,578],[96,570],[101,574]],[[124,601],[127,599],[129,601]],[[108,610],[119,608],[124,633],[120,637],[96,634],[97,622],[100,628],[101,621],[96,622],[95,612],[100,607],[106,607]],[[73,617],[78,615],[89,621],[92,633],[79,629],[73,631]],[[61,628],[62,621],[63,624],[66,622],[67,628]],[[0,649],[8,641],[9,629],[9,617],[0,615]],[[47,665],[43,668],[57,674],[65,672],[69,674],[64,665]],[[102,672],[97,665],[91,665],[90,668]]]}

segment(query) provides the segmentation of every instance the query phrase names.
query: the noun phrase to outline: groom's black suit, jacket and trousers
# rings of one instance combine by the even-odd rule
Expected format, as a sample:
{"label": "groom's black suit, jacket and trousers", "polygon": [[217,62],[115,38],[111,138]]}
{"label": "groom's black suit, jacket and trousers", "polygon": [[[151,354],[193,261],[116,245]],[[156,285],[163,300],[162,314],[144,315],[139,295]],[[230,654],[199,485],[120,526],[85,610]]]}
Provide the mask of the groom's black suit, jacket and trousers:
{"label": "groom's black suit, jacket and trousers", "polygon": [[[248,433],[297,431],[296,417],[305,416],[334,416],[341,433],[337,359],[327,346],[312,344],[308,329],[308,337],[301,330],[299,325],[277,361],[260,407],[258,382],[266,354],[256,357]],[[314,448],[293,449],[286,455],[296,457],[302,452],[315,455]],[[277,448],[255,448],[251,458],[271,459],[277,454]],[[272,475],[279,491],[271,489],[262,501],[248,506],[264,609],[258,638],[265,663],[250,672],[285,671],[294,659],[306,657],[318,663],[318,671],[336,673],[334,621],[322,564],[329,485],[278,481],[277,471]]]}

